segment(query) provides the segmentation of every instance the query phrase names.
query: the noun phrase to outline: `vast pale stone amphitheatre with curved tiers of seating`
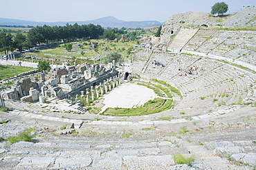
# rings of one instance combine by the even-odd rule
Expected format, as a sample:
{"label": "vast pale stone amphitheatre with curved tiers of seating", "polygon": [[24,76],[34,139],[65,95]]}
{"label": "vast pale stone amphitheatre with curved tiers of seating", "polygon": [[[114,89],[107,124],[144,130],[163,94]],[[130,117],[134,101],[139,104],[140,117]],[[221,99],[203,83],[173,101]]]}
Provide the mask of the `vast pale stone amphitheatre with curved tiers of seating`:
{"label": "vast pale stone amphitheatre with curved tiers of seating", "polygon": [[[6,107],[13,110],[1,111],[2,120],[8,120],[1,124],[1,138],[28,127],[35,127],[37,136],[33,142],[6,145],[8,141],[2,141],[0,168],[255,169],[256,31],[250,29],[255,28],[255,17],[256,7],[242,8],[221,21],[204,12],[173,15],[164,23],[160,38],[140,40],[152,47],[132,54],[128,70],[116,71],[115,63],[106,66],[109,72],[105,70],[101,85],[107,89],[98,82],[92,84],[97,86],[97,108],[102,107],[102,98],[113,93],[109,92],[113,87],[119,86],[113,91],[131,83],[154,87],[165,101],[157,106],[164,109],[154,114],[111,116],[89,114],[86,108],[82,114],[73,114],[81,108],[71,105],[71,100],[62,100],[62,95],[49,103],[5,100]],[[82,65],[80,72],[82,67],[86,78],[92,78],[93,72],[86,71],[91,66]],[[102,75],[100,65],[92,69]],[[41,88],[45,95],[60,92],[58,88],[51,90],[51,85],[57,84],[56,72],[49,75],[48,87]],[[72,85],[66,85],[68,78],[62,75],[59,83],[73,90]],[[129,78],[133,80],[127,82]],[[89,88],[83,89],[82,95]],[[30,97],[23,100],[33,100],[35,90],[26,90],[24,96],[27,93]],[[171,107],[165,107],[169,100]],[[112,101],[119,102],[116,98]],[[122,103],[129,104],[125,99]],[[73,112],[68,112],[71,108]],[[179,164],[174,160],[179,153],[194,162]]]}

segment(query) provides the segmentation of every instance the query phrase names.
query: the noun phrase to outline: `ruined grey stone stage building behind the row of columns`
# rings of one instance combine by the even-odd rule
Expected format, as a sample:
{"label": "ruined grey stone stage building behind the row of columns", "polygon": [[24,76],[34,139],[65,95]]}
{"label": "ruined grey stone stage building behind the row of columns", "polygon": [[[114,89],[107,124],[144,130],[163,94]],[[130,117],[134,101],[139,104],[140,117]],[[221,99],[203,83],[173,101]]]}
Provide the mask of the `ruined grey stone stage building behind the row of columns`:
{"label": "ruined grey stone stage building behind the row of columns", "polygon": [[40,80],[30,76],[15,81],[11,88],[3,92],[3,98],[24,102],[39,100],[44,103],[48,97],[71,98],[71,96],[80,94],[80,91],[85,92],[86,88],[121,78],[121,74],[118,75],[116,71],[115,63],[109,64],[109,67],[89,63],[57,67],[52,68],[47,75],[39,73],[39,76]]}

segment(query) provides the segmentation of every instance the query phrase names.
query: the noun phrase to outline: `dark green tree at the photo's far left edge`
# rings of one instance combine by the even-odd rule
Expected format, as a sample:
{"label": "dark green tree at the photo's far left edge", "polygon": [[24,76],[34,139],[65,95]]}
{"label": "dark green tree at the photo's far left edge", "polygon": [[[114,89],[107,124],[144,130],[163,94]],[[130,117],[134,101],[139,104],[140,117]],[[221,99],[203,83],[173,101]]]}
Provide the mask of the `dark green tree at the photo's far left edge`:
{"label": "dark green tree at the photo's far left edge", "polygon": [[7,54],[8,51],[13,51],[12,35],[6,32],[0,32],[0,52]]}

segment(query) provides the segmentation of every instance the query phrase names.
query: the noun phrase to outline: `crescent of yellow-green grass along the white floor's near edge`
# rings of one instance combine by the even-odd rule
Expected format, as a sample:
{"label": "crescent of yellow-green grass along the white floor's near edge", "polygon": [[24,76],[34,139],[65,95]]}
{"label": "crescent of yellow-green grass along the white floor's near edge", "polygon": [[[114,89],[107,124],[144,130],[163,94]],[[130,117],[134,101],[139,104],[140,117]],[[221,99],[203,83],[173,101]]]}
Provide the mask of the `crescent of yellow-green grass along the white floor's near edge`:
{"label": "crescent of yellow-green grass along the white floor's near edge", "polygon": [[108,108],[103,115],[111,116],[140,116],[155,114],[173,107],[172,100],[154,98],[147,101],[144,105],[135,108]]}

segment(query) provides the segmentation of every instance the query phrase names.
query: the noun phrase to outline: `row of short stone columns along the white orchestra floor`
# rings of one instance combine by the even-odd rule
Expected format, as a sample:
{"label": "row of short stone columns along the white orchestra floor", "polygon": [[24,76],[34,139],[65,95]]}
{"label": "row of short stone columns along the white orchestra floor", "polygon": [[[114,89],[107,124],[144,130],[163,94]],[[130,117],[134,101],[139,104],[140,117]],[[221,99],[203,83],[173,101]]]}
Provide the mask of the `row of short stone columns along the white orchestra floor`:
{"label": "row of short stone columns along the white orchestra floor", "polygon": [[[81,91],[81,100],[86,100],[86,103],[89,103],[89,96],[91,94],[91,100],[95,100],[96,98],[99,98],[100,96],[103,96],[104,94],[107,94],[107,92],[111,91],[111,89],[118,87],[121,83],[123,83],[124,78],[122,76],[114,76],[113,78],[107,78],[107,80],[104,80],[103,83],[100,83],[100,85],[95,85],[94,87],[91,86],[91,88],[86,88],[85,94],[84,91]],[[78,100],[78,94],[75,96],[75,100]],[[71,98],[72,100],[73,98]]]}

